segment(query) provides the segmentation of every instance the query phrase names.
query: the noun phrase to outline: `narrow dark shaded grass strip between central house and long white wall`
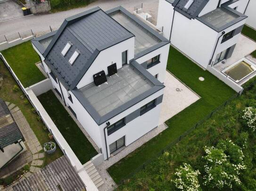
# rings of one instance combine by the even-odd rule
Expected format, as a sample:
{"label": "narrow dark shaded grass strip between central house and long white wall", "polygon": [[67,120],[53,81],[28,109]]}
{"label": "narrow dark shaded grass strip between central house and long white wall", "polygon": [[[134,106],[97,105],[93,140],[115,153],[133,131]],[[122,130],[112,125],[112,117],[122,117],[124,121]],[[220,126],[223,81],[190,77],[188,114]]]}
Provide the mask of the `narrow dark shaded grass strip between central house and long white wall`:
{"label": "narrow dark shaded grass strip between central house and long white wall", "polygon": [[97,154],[51,90],[38,96],[38,99],[82,164]]}

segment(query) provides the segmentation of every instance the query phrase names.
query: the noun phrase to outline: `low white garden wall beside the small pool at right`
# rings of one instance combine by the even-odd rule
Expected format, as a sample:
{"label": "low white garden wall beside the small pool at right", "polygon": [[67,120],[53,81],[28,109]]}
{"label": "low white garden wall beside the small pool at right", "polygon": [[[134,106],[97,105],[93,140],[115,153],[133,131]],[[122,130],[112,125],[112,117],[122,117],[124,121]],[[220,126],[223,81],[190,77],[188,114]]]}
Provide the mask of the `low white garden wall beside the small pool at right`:
{"label": "low white garden wall beside the small pool at right", "polygon": [[243,92],[244,89],[240,85],[233,82],[231,79],[229,79],[227,76],[225,76],[223,73],[219,72],[215,68],[208,65],[207,70],[211,72],[214,76],[219,78],[221,81],[223,81],[225,84],[230,86],[234,91],[239,92],[240,94]]}

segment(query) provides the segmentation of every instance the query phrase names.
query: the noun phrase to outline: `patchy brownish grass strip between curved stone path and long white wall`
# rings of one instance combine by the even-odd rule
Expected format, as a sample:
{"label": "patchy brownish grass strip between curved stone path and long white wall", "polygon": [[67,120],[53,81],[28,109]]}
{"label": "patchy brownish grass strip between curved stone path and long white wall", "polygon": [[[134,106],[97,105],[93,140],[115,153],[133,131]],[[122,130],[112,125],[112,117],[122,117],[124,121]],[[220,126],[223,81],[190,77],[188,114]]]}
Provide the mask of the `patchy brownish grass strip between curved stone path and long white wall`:
{"label": "patchy brownish grass strip between curved stone path and long white wall", "polygon": [[[34,131],[36,137],[38,138],[39,142],[43,146],[44,143],[49,142],[50,139],[48,137],[48,130],[43,130],[43,123],[37,120],[37,114],[34,114],[31,109],[33,108],[32,105],[28,102],[27,104],[24,103],[25,99],[21,99],[20,96],[23,95],[23,92],[19,90],[15,92],[12,90],[12,87],[17,83],[14,78],[9,73],[5,64],[0,60],[0,74],[3,76],[3,86],[0,87],[0,98],[14,103],[16,106],[20,108],[23,115],[25,116],[27,122],[29,123],[31,129]],[[46,159],[44,165],[49,164],[53,160],[58,159],[62,156],[63,153],[57,146],[56,152],[48,155],[46,154]]]}

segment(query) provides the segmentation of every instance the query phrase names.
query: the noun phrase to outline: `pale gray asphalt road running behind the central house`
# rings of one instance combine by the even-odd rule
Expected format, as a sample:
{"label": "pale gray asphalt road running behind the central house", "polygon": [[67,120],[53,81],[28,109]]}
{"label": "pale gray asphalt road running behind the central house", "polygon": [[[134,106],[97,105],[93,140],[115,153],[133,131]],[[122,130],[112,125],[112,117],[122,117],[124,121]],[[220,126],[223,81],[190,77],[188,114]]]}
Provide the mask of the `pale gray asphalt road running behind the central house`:
{"label": "pale gray asphalt road running behind the central house", "polygon": [[81,13],[96,6],[99,6],[103,10],[108,10],[121,5],[129,11],[132,11],[134,6],[139,6],[141,3],[143,3],[143,9],[145,8],[151,13],[157,12],[158,0],[98,0],[84,8],[76,8],[45,15],[28,15],[0,22],[0,36],[30,29],[36,34],[45,33],[45,31],[49,31],[49,26],[53,29],[57,29],[66,17]]}

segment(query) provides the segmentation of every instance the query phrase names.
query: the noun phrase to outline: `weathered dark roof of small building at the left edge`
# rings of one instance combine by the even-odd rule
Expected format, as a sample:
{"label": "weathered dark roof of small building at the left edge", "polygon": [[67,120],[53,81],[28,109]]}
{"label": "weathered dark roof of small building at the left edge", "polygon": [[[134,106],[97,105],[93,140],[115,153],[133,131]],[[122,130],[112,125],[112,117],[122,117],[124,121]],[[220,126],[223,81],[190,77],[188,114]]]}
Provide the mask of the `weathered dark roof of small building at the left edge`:
{"label": "weathered dark roof of small building at the left edge", "polygon": [[5,101],[0,99],[0,147],[16,143],[24,137],[14,121]]}

